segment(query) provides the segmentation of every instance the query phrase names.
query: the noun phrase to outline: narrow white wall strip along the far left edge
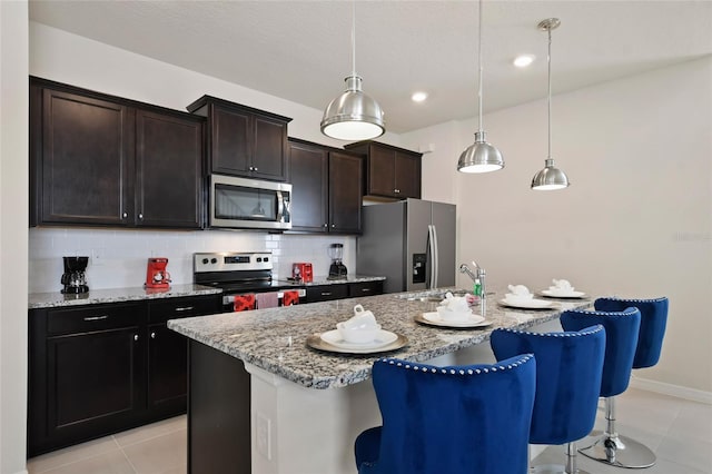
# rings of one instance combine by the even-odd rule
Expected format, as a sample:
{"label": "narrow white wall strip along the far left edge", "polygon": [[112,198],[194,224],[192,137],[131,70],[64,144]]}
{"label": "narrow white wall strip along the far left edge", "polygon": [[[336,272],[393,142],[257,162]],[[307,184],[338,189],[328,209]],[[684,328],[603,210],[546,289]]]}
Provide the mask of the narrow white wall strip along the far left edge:
{"label": "narrow white wall strip along the far left edge", "polygon": [[27,401],[28,7],[0,1],[0,473],[23,473]]}

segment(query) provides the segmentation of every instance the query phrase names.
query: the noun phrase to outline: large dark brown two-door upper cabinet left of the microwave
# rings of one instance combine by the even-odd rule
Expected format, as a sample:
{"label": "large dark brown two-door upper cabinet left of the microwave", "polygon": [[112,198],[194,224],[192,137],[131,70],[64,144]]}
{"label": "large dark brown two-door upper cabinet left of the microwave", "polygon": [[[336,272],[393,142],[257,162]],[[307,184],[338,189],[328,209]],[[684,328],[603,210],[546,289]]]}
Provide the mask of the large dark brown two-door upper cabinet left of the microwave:
{"label": "large dark brown two-door upper cabinet left of the microwave", "polygon": [[200,228],[204,121],[30,78],[30,223]]}

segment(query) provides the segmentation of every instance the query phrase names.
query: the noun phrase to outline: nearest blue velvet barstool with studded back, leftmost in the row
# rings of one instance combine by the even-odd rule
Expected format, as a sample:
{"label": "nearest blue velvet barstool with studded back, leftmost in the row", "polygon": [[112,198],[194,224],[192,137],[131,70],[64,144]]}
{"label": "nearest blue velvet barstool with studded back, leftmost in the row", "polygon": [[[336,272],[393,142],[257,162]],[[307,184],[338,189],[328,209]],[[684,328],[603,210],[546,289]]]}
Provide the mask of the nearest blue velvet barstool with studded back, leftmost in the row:
{"label": "nearest blue velvet barstool with studded back, leftmost in the row", "polygon": [[377,361],[383,426],[356,438],[358,473],[526,473],[535,377],[531,354],[452,367]]}

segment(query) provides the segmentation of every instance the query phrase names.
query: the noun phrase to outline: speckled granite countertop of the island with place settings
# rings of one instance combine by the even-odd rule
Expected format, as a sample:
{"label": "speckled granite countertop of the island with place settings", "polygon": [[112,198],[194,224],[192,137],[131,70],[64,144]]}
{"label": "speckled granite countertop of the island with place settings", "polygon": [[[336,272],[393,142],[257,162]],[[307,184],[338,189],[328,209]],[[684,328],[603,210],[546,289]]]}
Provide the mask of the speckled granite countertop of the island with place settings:
{"label": "speckled granite countertop of the island with place settings", "polygon": [[[504,293],[501,292],[500,295]],[[408,338],[405,347],[387,355],[414,362],[484,343],[488,340],[492,330],[498,327],[526,329],[557,318],[562,310],[592,306],[591,299],[553,299],[558,305],[555,309],[514,309],[496,303],[502,296],[488,294],[486,318],[493,322],[491,326],[479,329],[447,329],[424,326],[414,320],[416,315],[434,310],[437,305],[417,296],[419,295],[386,294],[171,319],[168,327],[305,387],[330,388],[367,379],[374,361],[384,355],[325,353],[307,347],[308,336],[335,329],[338,322],[353,316],[356,304],[370,309],[383,329]]]}

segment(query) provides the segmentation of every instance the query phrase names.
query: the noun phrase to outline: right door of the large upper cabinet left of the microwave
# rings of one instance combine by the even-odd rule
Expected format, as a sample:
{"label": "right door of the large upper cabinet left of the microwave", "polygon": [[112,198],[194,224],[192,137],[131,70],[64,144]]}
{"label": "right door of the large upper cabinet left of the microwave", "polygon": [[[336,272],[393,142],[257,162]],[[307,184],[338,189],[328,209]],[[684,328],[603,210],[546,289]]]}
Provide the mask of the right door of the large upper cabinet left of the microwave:
{"label": "right door of the large upper cabinet left of the microwave", "polygon": [[137,110],[136,225],[199,228],[202,124]]}

